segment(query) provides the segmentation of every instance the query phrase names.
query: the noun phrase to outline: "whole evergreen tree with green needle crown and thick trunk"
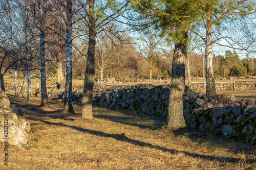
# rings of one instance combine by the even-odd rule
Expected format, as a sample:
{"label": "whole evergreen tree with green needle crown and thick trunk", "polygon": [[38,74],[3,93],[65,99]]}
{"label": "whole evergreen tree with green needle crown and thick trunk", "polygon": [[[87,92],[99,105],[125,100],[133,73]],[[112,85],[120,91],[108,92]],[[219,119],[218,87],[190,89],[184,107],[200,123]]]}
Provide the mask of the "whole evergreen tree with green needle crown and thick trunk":
{"label": "whole evergreen tree with green needle crown and thick trunk", "polygon": [[162,32],[172,37],[175,42],[167,116],[170,128],[186,126],[183,116],[183,94],[187,61],[187,32],[190,23],[196,21],[203,11],[207,12],[209,8],[214,8],[216,2],[215,0],[132,1],[133,9],[140,14],[138,19],[146,20],[147,25],[156,24],[156,27],[161,28]]}

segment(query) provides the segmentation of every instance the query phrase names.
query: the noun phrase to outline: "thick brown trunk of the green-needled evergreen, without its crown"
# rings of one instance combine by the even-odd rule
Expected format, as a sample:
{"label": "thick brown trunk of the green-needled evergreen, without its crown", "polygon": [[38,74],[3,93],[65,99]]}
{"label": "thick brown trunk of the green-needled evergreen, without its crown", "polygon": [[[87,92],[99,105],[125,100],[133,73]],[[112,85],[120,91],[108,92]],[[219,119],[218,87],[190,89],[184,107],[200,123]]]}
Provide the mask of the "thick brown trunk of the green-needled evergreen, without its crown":
{"label": "thick brown trunk of the green-needled evergreen, without its crown", "polygon": [[[187,34],[184,34],[187,39]],[[175,44],[172,67],[172,81],[170,82],[170,95],[168,106],[168,127],[186,127],[183,115],[183,94],[185,89],[186,44]]]}

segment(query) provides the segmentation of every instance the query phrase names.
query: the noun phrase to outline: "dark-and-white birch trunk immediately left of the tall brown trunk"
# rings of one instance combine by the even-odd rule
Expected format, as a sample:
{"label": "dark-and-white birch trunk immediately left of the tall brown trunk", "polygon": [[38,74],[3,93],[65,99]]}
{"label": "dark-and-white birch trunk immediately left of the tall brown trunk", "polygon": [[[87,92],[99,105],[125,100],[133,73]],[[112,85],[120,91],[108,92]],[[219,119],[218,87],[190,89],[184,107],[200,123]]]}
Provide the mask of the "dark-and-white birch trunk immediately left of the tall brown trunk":
{"label": "dark-and-white birch trunk immediately left of the tall brown trunk", "polygon": [[72,1],[67,1],[67,24],[66,33],[66,84],[64,112],[74,113],[72,105]]}

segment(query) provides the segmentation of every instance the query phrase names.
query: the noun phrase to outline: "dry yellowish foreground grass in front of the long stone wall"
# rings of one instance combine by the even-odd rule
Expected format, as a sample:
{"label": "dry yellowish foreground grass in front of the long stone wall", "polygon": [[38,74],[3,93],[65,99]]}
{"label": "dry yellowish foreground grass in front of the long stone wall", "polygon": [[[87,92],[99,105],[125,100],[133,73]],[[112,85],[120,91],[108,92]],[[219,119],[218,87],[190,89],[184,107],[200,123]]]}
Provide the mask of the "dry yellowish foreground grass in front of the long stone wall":
{"label": "dry yellowish foreground grass in front of the long stone wall", "polygon": [[[158,116],[94,107],[94,118],[82,120],[63,115],[58,110],[63,104],[35,109],[40,98],[25,103],[9,93],[9,99],[26,112],[38,149],[10,147],[8,169],[255,168],[255,146],[188,128],[162,128],[167,122]],[[80,105],[74,108],[81,113]],[[3,155],[0,162],[0,169],[7,169]]]}

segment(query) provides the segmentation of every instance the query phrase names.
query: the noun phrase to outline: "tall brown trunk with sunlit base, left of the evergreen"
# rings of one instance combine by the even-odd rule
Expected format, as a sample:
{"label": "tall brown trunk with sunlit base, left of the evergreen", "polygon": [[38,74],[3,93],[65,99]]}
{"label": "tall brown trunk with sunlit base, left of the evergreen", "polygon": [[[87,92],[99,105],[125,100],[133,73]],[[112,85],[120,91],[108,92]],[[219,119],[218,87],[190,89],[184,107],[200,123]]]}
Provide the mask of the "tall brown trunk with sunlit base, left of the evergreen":
{"label": "tall brown trunk with sunlit base, left of the evergreen", "polygon": [[89,44],[86,74],[84,75],[84,87],[82,98],[82,118],[92,119],[92,98],[93,82],[95,77],[95,45],[96,45],[96,28],[94,17],[94,0],[89,0]]}

